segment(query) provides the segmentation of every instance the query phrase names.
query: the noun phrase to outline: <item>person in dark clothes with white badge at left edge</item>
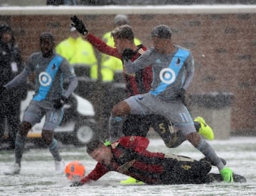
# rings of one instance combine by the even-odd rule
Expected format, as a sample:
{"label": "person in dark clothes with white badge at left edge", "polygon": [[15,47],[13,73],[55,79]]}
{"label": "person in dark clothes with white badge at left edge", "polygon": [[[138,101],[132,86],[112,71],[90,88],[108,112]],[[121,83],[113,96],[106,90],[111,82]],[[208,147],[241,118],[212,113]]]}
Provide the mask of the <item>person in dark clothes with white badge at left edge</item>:
{"label": "person in dark clothes with white badge at left edge", "polygon": [[[8,83],[23,70],[21,52],[16,45],[11,27],[0,25],[0,86]],[[9,133],[8,149],[14,149],[16,133],[21,123],[21,100],[26,98],[27,86],[23,85],[7,91],[0,97],[0,139]]]}

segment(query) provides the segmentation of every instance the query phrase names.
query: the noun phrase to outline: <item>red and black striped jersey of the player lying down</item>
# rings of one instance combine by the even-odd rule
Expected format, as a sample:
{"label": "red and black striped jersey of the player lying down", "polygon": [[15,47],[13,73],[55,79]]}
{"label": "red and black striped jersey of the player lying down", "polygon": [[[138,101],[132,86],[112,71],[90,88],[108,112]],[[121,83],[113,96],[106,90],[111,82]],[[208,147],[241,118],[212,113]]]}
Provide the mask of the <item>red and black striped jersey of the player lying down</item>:
{"label": "red and black striped jersey of the player lying down", "polygon": [[147,151],[148,145],[149,139],[146,137],[121,137],[110,146],[113,155],[111,163],[97,163],[81,183],[98,180],[109,171],[117,171],[148,184],[161,184],[161,175],[165,171],[164,154]]}

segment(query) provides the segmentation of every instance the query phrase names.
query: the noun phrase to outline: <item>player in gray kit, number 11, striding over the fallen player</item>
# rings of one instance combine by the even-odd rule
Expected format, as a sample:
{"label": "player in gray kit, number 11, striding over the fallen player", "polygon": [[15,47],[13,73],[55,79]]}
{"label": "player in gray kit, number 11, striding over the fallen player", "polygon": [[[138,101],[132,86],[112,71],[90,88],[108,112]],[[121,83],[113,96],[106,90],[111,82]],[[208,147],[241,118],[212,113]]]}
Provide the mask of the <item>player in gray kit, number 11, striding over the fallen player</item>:
{"label": "player in gray kit, number 11, striding over the fallen player", "polygon": [[126,57],[124,50],[124,71],[133,74],[151,65],[154,81],[151,91],[132,96],[114,105],[110,118],[110,131],[122,123],[122,117],[129,114],[162,115],[183,132],[186,139],[218,167],[225,182],[233,182],[233,171],[225,167],[212,147],[201,138],[193,120],[181,101],[181,91],[186,90],[193,79],[193,55],[189,50],[171,42],[171,30],[159,25],[151,31],[154,47],[144,52],[135,62]]}

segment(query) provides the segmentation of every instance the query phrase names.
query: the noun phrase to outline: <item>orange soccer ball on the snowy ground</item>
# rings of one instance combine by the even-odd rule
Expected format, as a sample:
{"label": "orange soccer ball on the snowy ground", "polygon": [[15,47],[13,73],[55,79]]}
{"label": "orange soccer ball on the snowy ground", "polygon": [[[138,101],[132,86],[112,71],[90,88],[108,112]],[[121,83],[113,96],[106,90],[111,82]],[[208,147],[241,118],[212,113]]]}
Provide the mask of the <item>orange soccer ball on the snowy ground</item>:
{"label": "orange soccer ball on the snowy ground", "polygon": [[85,176],[85,166],[80,161],[72,161],[65,167],[65,176],[72,181],[80,181]]}

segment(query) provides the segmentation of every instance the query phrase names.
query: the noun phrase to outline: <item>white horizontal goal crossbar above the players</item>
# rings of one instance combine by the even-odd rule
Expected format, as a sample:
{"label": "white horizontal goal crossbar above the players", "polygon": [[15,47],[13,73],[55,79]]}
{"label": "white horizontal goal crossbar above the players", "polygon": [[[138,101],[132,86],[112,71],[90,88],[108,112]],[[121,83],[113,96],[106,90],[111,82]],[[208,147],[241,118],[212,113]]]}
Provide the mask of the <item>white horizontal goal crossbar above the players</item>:
{"label": "white horizontal goal crossbar above the players", "polygon": [[189,6],[3,6],[0,16],[21,15],[102,15],[102,14],[222,14],[256,13],[256,5]]}

